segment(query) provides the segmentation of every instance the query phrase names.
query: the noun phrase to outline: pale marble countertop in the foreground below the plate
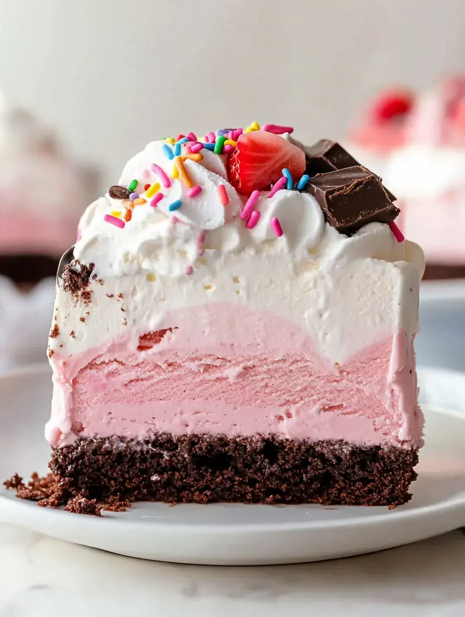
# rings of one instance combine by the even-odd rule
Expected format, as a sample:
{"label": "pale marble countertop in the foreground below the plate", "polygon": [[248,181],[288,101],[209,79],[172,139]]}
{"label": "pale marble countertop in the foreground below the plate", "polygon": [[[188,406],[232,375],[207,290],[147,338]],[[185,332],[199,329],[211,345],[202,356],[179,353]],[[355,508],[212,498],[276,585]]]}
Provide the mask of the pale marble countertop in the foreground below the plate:
{"label": "pale marble countertop in the foreground below the plate", "polygon": [[0,524],[1,617],[465,615],[465,534],[293,566],[121,557]]}

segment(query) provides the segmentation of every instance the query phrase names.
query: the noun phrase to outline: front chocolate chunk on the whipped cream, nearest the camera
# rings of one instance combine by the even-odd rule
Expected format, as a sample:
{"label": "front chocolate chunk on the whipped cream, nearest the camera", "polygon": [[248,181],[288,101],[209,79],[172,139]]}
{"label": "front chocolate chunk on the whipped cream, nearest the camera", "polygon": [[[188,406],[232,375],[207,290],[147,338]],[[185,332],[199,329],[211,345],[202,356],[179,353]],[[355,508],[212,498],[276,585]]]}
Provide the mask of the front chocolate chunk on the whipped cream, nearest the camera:
{"label": "front chocolate chunk on the whipped cream, nearest the camera", "polygon": [[400,212],[381,178],[361,165],[320,173],[310,178],[306,191],[316,198],[330,225],[348,235],[367,223],[390,223]]}

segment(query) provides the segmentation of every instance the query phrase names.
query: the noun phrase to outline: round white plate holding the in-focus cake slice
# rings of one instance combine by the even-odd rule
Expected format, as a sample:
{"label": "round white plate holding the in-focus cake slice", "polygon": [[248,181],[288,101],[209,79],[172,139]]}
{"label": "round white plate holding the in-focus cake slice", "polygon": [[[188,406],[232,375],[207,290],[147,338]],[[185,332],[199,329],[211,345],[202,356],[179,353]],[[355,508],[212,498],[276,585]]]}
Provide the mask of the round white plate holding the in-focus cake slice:
{"label": "round white plate holding the in-focus cake slice", "polygon": [[[48,368],[0,378],[0,478],[46,471]],[[388,508],[136,503],[102,518],[39,508],[0,490],[0,519],[146,559],[219,565],[295,563],[388,549],[465,525],[465,376],[421,370],[426,445],[407,505]],[[463,412],[463,413],[461,413]]]}

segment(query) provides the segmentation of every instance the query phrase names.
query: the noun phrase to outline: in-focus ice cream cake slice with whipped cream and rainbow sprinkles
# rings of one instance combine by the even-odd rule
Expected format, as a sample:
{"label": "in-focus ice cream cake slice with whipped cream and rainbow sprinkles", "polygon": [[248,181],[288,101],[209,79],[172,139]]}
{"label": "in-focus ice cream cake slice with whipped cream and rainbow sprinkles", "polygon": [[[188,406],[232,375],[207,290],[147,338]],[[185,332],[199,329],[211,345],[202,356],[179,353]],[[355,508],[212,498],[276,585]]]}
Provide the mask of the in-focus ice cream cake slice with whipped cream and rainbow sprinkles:
{"label": "in-focus ice cream cake slice with whipped cream and rainbow sprinkles", "polygon": [[[282,152],[274,137],[261,154],[256,126],[149,143],[82,217],[57,280],[46,426],[51,470],[76,495],[409,499],[419,252],[393,234],[377,176],[336,187],[326,220],[324,174],[294,177],[304,157],[277,125]],[[230,182],[241,139],[258,165],[247,182],[262,165],[270,191]],[[276,172],[270,152],[292,165]],[[368,208],[370,194],[383,202]]]}

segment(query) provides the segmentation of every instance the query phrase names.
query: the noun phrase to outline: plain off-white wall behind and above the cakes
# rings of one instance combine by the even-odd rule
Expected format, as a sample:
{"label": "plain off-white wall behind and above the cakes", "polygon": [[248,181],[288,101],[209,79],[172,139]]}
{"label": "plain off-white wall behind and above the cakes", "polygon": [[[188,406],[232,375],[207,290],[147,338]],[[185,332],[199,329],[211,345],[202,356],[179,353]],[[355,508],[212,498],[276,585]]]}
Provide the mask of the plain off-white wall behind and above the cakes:
{"label": "plain off-white wall behind and above the cakes", "polygon": [[464,0],[0,0],[0,88],[101,165],[168,134],[340,136],[366,97],[465,68]]}

